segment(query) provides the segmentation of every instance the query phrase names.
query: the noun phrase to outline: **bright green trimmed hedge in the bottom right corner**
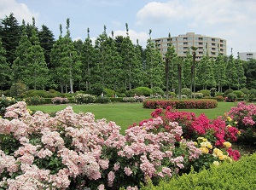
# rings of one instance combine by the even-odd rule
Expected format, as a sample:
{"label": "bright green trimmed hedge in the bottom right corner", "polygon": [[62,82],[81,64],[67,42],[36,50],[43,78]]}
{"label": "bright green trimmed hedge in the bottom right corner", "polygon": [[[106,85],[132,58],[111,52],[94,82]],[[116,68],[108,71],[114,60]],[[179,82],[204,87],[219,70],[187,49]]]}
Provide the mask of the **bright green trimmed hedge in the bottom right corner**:
{"label": "bright green trimmed hedge in the bottom right corner", "polygon": [[149,183],[142,190],[190,190],[190,189],[256,189],[256,153],[244,156],[237,162],[212,165],[209,170],[174,176],[169,182],[160,181],[158,186]]}

